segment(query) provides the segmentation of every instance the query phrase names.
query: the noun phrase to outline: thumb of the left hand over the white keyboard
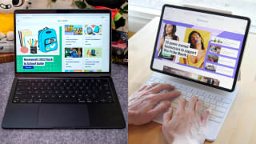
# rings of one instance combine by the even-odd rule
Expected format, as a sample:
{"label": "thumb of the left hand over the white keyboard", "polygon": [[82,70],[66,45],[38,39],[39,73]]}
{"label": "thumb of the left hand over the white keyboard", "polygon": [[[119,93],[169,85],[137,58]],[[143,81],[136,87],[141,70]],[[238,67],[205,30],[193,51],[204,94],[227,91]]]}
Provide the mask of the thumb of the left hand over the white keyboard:
{"label": "thumb of the left hand over the white keyboard", "polygon": [[158,114],[161,114],[165,110],[167,110],[170,107],[170,102],[169,101],[162,101],[160,102],[157,106],[155,106],[153,109],[148,111],[148,114],[150,114],[150,117],[153,119]]}

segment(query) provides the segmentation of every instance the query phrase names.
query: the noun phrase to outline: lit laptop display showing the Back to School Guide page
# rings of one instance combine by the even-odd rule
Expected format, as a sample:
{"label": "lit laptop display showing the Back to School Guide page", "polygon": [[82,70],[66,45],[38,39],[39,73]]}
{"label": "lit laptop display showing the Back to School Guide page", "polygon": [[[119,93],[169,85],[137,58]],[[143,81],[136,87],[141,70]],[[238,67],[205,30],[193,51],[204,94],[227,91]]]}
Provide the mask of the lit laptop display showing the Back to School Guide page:
{"label": "lit laptop display showing the Back to School Guide page", "polygon": [[109,72],[110,14],[16,14],[17,72]]}

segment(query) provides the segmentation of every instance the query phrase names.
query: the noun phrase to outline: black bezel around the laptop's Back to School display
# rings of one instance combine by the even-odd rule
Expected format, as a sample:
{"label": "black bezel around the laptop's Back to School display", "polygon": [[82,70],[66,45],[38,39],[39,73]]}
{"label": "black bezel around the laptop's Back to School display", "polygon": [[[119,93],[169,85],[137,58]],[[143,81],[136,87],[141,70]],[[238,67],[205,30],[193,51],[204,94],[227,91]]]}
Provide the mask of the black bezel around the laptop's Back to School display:
{"label": "black bezel around the laptop's Back to School display", "polygon": [[[16,62],[16,14],[109,14],[110,16],[110,54],[109,54],[109,71],[108,72],[17,72]],[[14,10],[14,70],[16,76],[85,76],[85,75],[110,75],[111,74],[111,11],[110,10]]]}

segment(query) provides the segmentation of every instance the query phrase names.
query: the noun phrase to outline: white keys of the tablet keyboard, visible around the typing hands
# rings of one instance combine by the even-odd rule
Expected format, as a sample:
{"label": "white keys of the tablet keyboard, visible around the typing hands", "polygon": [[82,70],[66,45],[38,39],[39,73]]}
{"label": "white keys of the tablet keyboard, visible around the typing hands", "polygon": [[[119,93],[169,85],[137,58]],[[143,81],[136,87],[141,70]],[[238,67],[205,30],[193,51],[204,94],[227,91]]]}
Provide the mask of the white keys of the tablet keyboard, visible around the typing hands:
{"label": "white keys of the tablet keyboard, visible around the typing hands", "polygon": [[[176,82],[170,82],[170,81],[163,81],[160,78],[151,77],[146,84],[150,83],[169,83],[173,86],[175,86],[175,90],[181,91],[181,96],[183,98],[186,98],[186,101],[190,102],[190,99],[193,96],[198,96],[199,99],[202,99],[204,102],[203,106],[206,108],[210,106],[211,108],[211,114],[209,120],[212,122],[221,123],[224,120],[226,110],[229,109],[231,99],[230,98],[223,98],[222,95],[217,94],[211,94],[207,91],[194,89],[193,87],[182,85],[180,83]],[[174,98],[171,101],[171,107],[176,110],[179,102],[179,98]]]}

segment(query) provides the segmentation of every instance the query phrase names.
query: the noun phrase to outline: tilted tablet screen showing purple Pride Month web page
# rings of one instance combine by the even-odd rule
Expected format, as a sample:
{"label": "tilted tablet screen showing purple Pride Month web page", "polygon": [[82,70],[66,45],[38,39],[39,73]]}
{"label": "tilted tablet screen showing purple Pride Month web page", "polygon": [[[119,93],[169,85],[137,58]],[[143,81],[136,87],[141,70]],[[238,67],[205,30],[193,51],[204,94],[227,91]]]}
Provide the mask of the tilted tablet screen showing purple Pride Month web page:
{"label": "tilted tablet screen showing purple Pride Month web page", "polygon": [[165,6],[151,68],[231,90],[248,23],[247,19]]}

